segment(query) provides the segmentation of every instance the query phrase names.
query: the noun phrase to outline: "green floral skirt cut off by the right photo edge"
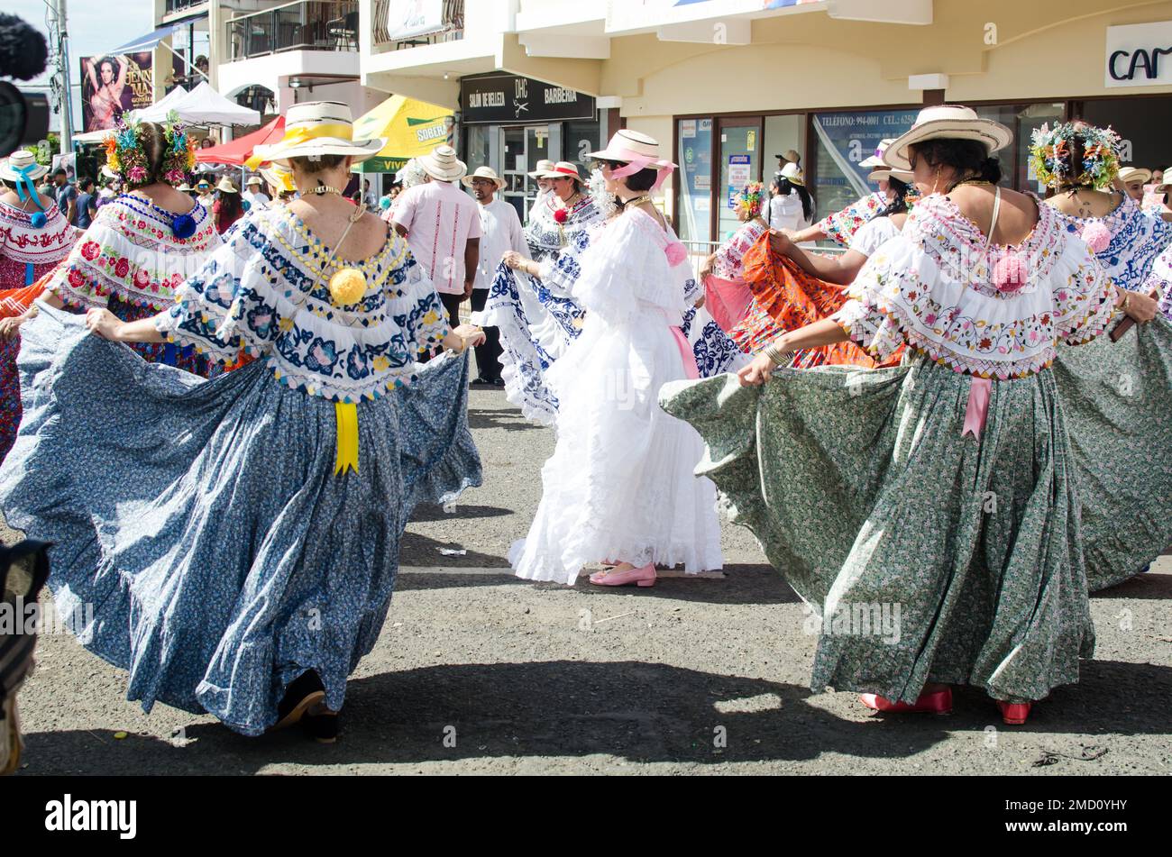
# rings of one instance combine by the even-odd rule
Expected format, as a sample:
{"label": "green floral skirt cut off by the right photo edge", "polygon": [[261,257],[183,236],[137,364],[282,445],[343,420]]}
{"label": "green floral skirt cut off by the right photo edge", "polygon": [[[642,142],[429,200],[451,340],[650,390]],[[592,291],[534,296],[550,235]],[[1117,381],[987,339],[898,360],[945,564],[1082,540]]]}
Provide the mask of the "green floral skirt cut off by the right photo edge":
{"label": "green floral skirt cut off by the right photo edge", "polygon": [[1172,544],[1172,324],[1061,347],[1054,375],[1070,432],[1090,591]]}

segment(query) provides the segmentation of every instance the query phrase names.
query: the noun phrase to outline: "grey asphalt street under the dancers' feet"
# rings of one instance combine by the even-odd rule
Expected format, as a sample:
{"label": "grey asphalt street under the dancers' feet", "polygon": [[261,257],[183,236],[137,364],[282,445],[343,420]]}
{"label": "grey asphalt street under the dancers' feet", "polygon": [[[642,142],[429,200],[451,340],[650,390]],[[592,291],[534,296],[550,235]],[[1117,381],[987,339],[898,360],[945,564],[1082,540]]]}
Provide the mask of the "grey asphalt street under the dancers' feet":
{"label": "grey asphalt street under the dancers' feet", "polygon": [[810,692],[802,603],[741,528],[724,525],[723,575],[652,589],[512,577],[553,434],[497,390],[471,393],[470,420],[485,484],[408,527],[336,745],[146,715],[123,673],[62,632],[39,642],[20,697],[19,775],[1172,773],[1172,557],[1092,597],[1095,659],[1028,725],[1003,726],[973,690],[950,717],[874,715]]}

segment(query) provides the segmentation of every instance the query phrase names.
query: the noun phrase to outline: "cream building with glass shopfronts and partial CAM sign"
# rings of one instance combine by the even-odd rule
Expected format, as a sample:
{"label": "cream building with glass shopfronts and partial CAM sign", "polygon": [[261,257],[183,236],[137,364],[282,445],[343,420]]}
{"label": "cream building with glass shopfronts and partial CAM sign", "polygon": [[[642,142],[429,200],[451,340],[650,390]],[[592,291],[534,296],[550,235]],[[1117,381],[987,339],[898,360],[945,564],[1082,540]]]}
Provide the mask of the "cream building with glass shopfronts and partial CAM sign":
{"label": "cream building with glass shopfronts and partial CAM sign", "polygon": [[[1011,128],[1001,158],[1016,188],[1040,190],[1031,131],[1068,118],[1112,125],[1125,164],[1172,165],[1172,1],[481,0],[464,8],[469,43],[376,44],[382,53],[363,53],[363,81],[456,103],[463,77],[507,69],[592,96],[608,119],[599,139],[626,126],[670,150],[681,170],[663,187],[663,207],[696,244],[732,228],[730,194],[772,178],[775,156],[790,149],[802,156],[818,215],[861,196],[868,186],[858,164],[926,104],[967,104]],[[522,131],[511,133],[517,140]],[[551,126],[546,145],[553,135]],[[519,144],[498,139],[493,153],[492,140],[493,132],[488,143],[470,139],[466,153],[509,152],[516,172]],[[534,137],[524,150],[532,163],[540,144]]]}

